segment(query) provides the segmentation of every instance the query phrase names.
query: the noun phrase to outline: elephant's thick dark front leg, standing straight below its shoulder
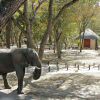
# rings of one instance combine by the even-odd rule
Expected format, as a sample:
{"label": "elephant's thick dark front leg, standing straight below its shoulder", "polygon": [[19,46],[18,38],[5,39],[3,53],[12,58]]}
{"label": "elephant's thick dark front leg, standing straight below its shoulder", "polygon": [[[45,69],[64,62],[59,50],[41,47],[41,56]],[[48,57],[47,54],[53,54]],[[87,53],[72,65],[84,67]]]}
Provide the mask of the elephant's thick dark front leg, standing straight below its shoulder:
{"label": "elephant's thick dark front leg, standing straight below its shoulder", "polygon": [[25,68],[16,68],[16,75],[18,78],[18,88],[17,88],[17,93],[18,94],[23,94],[22,88],[23,88],[23,78],[25,74]]}

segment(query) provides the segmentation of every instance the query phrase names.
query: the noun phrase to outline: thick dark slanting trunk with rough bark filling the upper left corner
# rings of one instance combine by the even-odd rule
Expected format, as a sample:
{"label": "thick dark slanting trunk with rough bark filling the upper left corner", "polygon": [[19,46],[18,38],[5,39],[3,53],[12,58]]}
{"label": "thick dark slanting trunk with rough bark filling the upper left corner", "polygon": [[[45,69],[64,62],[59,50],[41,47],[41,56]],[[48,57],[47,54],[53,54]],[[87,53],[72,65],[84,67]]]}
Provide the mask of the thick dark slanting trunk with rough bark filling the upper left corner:
{"label": "thick dark slanting trunk with rough bark filling the upper left corner", "polygon": [[25,0],[0,0],[0,31]]}

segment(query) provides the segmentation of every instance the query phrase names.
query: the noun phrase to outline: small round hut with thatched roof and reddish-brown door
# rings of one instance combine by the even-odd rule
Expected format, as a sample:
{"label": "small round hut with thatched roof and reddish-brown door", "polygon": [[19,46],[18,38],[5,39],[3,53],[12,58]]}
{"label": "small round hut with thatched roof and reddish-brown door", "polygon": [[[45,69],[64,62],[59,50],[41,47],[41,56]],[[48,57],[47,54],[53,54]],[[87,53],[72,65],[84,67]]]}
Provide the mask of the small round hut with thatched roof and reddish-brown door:
{"label": "small round hut with thatched roof and reddish-brown door", "polygon": [[83,39],[83,48],[97,49],[98,47],[99,36],[89,28],[77,36],[76,39]]}

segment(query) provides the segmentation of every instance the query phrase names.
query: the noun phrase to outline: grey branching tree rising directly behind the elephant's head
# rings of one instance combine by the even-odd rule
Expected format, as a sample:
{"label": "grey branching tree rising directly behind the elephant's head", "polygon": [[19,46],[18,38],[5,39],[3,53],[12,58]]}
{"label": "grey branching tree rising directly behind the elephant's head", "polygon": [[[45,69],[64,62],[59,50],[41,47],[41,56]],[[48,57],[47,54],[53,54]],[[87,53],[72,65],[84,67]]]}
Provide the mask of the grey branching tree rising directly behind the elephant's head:
{"label": "grey branching tree rising directly behind the elephant's head", "polygon": [[[33,10],[34,2],[32,2],[32,9],[31,9],[32,14],[30,14],[28,12],[28,10],[29,10],[28,9],[28,1],[26,1],[25,5],[24,5],[24,15],[25,16],[23,16],[23,13],[20,10],[18,10],[18,13],[23,17],[23,20],[25,21],[24,24],[26,25],[26,29],[24,29],[20,25],[20,23],[13,18],[13,21],[14,21],[15,25],[17,25],[18,28],[26,36],[26,38],[27,38],[27,47],[29,47],[29,48],[37,49],[36,46],[34,45],[34,42],[33,42],[33,39],[32,39],[32,24],[33,24],[36,12],[38,11],[39,7],[44,3],[44,1],[46,1],[46,0],[42,0],[42,1],[38,0],[38,6],[36,6],[35,10]],[[29,14],[30,14],[31,17],[29,17]],[[23,26],[25,26],[25,25],[23,25]]]}

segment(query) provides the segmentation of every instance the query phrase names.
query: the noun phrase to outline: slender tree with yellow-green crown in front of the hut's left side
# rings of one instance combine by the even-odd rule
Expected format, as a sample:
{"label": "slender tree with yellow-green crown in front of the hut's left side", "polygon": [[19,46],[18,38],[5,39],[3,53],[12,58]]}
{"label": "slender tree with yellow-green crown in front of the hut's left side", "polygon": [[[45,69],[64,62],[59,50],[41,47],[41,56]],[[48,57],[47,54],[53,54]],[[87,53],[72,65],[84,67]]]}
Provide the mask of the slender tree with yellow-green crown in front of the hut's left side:
{"label": "slender tree with yellow-green crown in front of the hut's left side", "polygon": [[[91,18],[94,16],[94,4],[97,0],[81,0],[79,4],[74,6],[75,18],[79,30],[79,35],[83,32],[83,38],[80,39],[80,52],[83,48],[84,32],[89,25]],[[81,6],[80,6],[81,5]]]}

